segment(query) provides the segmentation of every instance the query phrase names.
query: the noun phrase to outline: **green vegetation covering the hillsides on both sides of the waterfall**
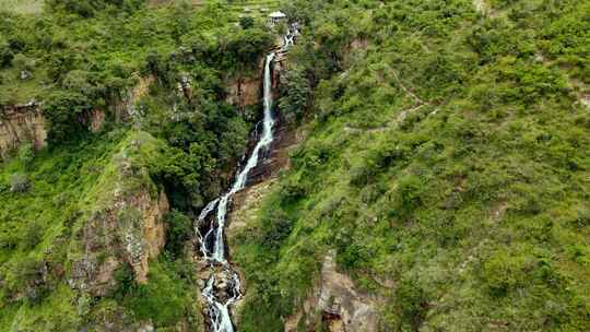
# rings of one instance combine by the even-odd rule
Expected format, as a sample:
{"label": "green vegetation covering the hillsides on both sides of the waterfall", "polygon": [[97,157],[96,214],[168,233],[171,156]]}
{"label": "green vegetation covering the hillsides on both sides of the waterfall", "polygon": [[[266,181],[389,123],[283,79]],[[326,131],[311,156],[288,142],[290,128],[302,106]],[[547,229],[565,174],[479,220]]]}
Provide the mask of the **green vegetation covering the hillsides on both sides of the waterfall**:
{"label": "green vegetation covering the hillsides on both sides of the waterfall", "polygon": [[[276,104],[305,139],[231,239],[240,331],[282,331],[331,252],[382,331],[590,330],[590,4],[484,2],[284,1]],[[0,331],[203,330],[192,220],[256,120],[224,82],[259,74],[280,4],[46,3],[0,1],[0,105],[49,131],[0,165]]]}

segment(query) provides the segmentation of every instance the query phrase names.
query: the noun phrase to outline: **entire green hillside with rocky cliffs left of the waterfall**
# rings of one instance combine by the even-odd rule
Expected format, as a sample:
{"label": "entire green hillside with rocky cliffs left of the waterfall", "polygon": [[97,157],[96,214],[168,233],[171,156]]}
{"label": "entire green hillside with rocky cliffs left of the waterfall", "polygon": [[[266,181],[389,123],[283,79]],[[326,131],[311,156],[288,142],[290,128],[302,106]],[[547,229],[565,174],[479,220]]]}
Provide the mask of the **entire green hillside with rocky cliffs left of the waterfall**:
{"label": "entire green hillside with rocky cliffs left of the waterfall", "polygon": [[192,216],[259,114],[225,82],[272,33],[215,3],[47,2],[0,11],[0,104],[39,102],[49,134],[0,164],[0,331],[202,330]]}

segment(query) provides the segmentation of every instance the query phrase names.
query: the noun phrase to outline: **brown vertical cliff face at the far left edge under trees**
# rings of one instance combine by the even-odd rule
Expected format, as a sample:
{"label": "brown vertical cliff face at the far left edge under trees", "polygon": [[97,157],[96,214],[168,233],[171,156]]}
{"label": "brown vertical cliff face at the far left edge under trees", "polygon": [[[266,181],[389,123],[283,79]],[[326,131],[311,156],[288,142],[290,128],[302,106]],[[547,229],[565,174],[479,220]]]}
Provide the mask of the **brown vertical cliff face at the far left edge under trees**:
{"label": "brown vertical cliff face at the far left edge under trees", "polygon": [[5,106],[0,109],[0,156],[8,157],[10,151],[22,143],[31,142],[35,149],[47,143],[45,118],[36,103]]}

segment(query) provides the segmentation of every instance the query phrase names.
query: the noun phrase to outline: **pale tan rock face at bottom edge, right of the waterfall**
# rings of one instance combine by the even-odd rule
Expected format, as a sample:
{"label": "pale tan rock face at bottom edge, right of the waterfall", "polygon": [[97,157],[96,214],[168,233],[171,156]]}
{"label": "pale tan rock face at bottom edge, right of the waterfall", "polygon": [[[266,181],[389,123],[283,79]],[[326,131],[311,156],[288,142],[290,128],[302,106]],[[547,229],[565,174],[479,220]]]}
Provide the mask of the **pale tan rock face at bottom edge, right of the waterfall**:
{"label": "pale tan rock face at bottom edge, right of the waterfall", "polygon": [[379,328],[379,300],[358,292],[350,276],[335,269],[334,252],[326,256],[316,292],[303,309],[285,322],[285,332],[303,323],[311,331],[318,320],[330,332],[376,332]]}

